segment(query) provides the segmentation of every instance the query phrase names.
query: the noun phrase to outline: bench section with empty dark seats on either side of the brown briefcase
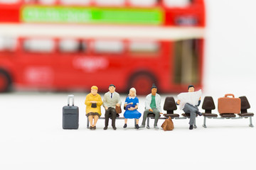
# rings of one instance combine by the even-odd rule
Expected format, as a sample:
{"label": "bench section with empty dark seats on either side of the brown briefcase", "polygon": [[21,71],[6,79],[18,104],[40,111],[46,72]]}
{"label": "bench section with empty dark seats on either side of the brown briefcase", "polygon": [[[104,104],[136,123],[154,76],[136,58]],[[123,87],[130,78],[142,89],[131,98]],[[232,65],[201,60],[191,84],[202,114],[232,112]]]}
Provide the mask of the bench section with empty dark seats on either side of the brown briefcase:
{"label": "bench section with empty dark seats on either side of the brown briefcase", "polygon": [[242,119],[242,118],[250,118],[250,127],[254,127],[252,125],[252,117],[254,116],[254,113],[247,113],[247,109],[250,108],[250,103],[247,100],[245,96],[239,97],[241,100],[241,111],[238,114],[238,117],[234,113],[225,113],[220,114],[220,117],[218,117],[217,114],[212,113],[212,111],[215,109],[215,104],[213,101],[213,97],[206,96],[203,100],[203,110],[205,110],[205,113],[203,113],[203,128],[207,128],[206,126],[206,118],[213,118],[213,119]]}

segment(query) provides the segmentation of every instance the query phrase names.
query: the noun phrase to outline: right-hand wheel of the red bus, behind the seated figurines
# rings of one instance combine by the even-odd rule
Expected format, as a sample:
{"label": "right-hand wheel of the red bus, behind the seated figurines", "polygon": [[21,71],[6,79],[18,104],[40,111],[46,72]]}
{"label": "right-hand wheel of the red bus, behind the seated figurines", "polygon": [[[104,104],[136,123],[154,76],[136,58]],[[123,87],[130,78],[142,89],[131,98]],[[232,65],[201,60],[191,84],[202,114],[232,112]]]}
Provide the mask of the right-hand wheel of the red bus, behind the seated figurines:
{"label": "right-hand wheel of the red bus, behind the seated figurines", "polygon": [[150,94],[152,84],[156,84],[156,79],[149,73],[134,74],[129,81],[129,87],[134,87],[140,95]]}

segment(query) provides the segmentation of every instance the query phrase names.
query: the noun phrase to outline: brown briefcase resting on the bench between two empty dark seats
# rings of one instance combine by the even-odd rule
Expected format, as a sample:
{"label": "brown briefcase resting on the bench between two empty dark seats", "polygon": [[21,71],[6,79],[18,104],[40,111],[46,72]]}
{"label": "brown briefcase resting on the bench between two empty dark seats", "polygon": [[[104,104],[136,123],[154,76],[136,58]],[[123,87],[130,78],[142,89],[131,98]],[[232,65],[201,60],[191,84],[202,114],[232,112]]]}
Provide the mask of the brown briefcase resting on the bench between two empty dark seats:
{"label": "brown briefcase resting on the bench between two empty dark seats", "polygon": [[[228,97],[232,96],[232,98]],[[225,97],[218,98],[218,112],[223,113],[240,113],[241,100],[235,98],[233,94],[225,94]]]}

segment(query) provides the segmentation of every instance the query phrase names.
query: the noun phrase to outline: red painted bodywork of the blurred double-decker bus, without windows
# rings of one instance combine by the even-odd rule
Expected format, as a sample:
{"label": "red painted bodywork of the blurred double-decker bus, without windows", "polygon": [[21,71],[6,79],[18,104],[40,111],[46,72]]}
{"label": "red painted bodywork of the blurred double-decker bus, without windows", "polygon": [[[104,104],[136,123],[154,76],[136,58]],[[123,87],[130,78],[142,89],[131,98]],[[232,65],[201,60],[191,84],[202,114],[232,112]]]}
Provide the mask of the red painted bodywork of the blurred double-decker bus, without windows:
{"label": "red painted bodywork of the blurred double-decker bus, without windows", "polygon": [[[23,24],[20,10],[21,6],[24,5],[26,4],[23,1],[12,5],[0,4],[0,22]],[[40,6],[40,4],[30,5]],[[93,5],[95,4],[90,4],[90,6]],[[56,1],[55,6],[61,6],[60,2]],[[164,11],[165,18],[164,23],[158,27],[203,28],[205,26],[205,9],[201,0],[194,0],[188,8],[166,8],[163,4],[158,4],[156,7]],[[129,5],[129,1],[126,1],[126,8],[133,8]],[[177,17],[181,20],[177,21]],[[195,22],[191,26],[186,26],[186,21],[182,21],[186,17],[193,18],[191,21]],[[48,52],[26,50],[25,41],[33,38],[50,40],[50,45],[53,47]],[[60,41],[65,39],[75,40],[75,42],[79,42],[79,45],[85,45],[85,49],[76,52],[62,52]],[[117,46],[120,45],[122,50],[119,52],[97,51],[97,43],[100,44],[101,40],[103,42],[118,42]],[[151,48],[154,48],[155,45],[155,51],[142,50],[137,52],[135,50],[133,52],[131,50],[134,42],[146,43],[148,41],[152,43],[142,48],[152,45]],[[137,48],[137,44],[134,45]],[[181,47],[186,47],[188,53],[193,53],[191,59],[196,58],[196,63],[191,66],[196,66],[193,68],[196,70],[193,74],[195,76],[191,76],[191,80],[188,81],[179,79],[182,71],[178,71],[179,68],[177,67],[184,63],[179,61],[183,60],[184,57],[177,57],[183,55],[180,50]],[[177,65],[177,63],[180,64]],[[203,38],[146,40],[21,35],[16,37],[16,45],[13,50],[0,50],[0,91],[6,91],[6,84],[8,86],[13,84],[17,89],[47,90],[89,90],[90,86],[96,85],[103,92],[107,91],[110,84],[114,84],[119,92],[127,92],[134,86],[138,94],[147,94],[151,84],[154,83],[160,92],[180,92],[186,91],[188,84],[201,88],[202,76]]]}

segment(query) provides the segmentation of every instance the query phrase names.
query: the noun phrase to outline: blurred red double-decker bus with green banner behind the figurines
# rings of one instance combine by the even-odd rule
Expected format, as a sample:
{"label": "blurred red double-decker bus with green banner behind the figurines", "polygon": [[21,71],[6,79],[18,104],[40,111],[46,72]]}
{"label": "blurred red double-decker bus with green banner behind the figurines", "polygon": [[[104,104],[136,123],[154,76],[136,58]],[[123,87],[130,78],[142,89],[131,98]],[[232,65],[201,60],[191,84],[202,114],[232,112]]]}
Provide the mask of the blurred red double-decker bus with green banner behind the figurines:
{"label": "blurred red double-decker bus with green banner behind the figurines", "polygon": [[0,0],[0,91],[202,86],[203,0]]}

